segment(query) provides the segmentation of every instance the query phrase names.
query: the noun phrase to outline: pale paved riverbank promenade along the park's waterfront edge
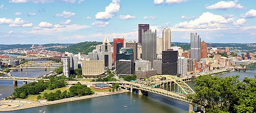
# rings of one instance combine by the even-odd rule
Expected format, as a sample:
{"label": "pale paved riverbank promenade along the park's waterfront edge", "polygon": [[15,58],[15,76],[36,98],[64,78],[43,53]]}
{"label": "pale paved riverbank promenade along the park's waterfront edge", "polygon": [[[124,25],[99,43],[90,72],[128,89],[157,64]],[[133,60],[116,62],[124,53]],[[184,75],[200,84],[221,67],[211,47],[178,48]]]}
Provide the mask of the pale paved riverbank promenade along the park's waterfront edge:
{"label": "pale paved riverbank promenade along the park's waterfront edge", "polygon": [[91,98],[96,98],[96,97],[101,97],[101,96],[109,96],[113,94],[122,94],[122,93],[127,93],[130,92],[128,90],[119,90],[115,92],[97,92],[96,94],[90,95],[90,96],[80,96],[80,97],[72,97],[72,98],[66,98],[66,99],[61,99],[61,100],[55,100],[55,101],[49,101],[45,103],[39,103],[35,101],[25,101],[25,100],[2,100],[0,101],[0,105],[8,104],[8,103],[18,103],[22,104],[20,107],[15,107],[15,108],[0,108],[0,112],[3,111],[14,111],[14,110],[23,110],[23,109],[28,109],[28,108],[33,108],[33,107],[41,107],[41,106],[47,106],[47,105],[55,105],[59,103],[65,103],[65,102],[73,102],[73,101],[78,101],[78,100],[83,100],[83,99],[91,99]]}

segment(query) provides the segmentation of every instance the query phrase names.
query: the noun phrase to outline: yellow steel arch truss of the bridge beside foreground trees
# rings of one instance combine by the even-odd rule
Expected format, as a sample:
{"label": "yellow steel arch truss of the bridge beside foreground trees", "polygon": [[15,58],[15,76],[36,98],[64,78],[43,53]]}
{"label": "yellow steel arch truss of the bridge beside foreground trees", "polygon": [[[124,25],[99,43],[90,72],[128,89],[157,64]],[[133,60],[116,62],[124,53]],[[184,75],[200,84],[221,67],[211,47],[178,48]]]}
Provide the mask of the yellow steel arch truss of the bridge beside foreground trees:
{"label": "yellow steel arch truss of the bridge beside foreground trees", "polygon": [[195,91],[183,80],[172,75],[156,75],[149,77],[140,85],[140,89],[188,103],[190,102],[186,99],[186,95],[195,94]]}

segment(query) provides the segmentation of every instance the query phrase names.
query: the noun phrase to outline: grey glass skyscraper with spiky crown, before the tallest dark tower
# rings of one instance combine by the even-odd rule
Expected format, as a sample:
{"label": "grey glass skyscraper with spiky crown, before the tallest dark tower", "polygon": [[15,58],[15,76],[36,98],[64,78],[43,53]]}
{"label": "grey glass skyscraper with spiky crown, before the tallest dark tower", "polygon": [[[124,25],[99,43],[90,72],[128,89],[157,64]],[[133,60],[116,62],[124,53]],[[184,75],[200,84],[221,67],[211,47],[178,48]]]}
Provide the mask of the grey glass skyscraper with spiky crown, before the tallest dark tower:
{"label": "grey glass skyscraper with spiky crown, before the tallest dark tower", "polygon": [[142,32],[142,59],[153,62],[157,58],[157,30]]}

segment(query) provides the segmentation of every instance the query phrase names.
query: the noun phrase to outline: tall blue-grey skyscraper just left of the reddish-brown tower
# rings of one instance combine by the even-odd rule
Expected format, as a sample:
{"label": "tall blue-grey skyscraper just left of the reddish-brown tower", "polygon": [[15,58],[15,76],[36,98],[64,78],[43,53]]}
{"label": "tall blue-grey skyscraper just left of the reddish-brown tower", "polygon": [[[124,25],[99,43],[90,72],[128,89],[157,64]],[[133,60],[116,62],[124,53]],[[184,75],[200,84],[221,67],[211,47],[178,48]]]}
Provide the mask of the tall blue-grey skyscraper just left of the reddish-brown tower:
{"label": "tall blue-grey skyscraper just left of the reddish-brown tower", "polygon": [[197,33],[191,33],[191,40],[190,40],[190,58],[194,59],[195,61],[200,60],[200,42],[201,38]]}

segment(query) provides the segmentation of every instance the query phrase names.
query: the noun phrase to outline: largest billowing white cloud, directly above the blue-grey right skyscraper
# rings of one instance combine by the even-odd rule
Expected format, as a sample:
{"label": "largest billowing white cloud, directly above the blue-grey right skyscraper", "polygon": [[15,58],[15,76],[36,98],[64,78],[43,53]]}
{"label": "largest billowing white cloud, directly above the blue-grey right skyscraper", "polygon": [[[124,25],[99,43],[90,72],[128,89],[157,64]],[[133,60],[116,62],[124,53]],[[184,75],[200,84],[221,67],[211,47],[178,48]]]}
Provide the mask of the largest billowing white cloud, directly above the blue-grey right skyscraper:
{"label": "largest billowing white cloud, directly above the blue-grey right skyscraper", "polygon": [[245,19],[234,20],[234,17],[225,18],[221,15],[215,15],[210,12],[203,13],[199,18],[189,22],[180,22],[176,24],[177,28],[192,28],[192,29],[206,29],[206,28],[227,28],[234,26],[242,26]]}

